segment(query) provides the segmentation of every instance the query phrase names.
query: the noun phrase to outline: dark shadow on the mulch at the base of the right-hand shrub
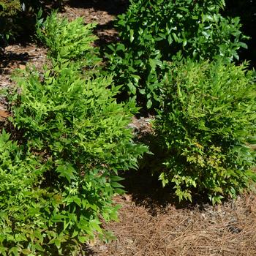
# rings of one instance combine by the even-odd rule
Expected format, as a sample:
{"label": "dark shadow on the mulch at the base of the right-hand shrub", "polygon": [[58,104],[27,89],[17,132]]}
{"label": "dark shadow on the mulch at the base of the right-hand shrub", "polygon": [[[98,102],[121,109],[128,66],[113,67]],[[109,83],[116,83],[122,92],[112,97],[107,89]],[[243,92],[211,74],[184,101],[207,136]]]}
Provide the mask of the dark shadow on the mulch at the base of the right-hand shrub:
{"label": "dark shadow on the mulch at the base of the right-hand shrub", "polygon": [[[161,149],[158,148],[157,138],[154,135],[147,134],[143,135],[140,140],[149,145],[154,155],[144,156],[143,162],[140,162],[139,170],[129,170],[121,173],[121,177],[124,178],[121,184],[127,194],[132,195],[132,201],[137,206],[144,206],[152,216],[156,216],[159,213],[164,214],[165,208],[169,205],[175,206],[176,209],[199,208],[201,210],[209,205],[208,197],[202,195],[202,193],[199,194],[197,191],[193,192],[192,203],[186,200],[179,202],[172,184],[162,187],[162,182],[159,181],[157,173],[163,167],[164,159],[162,156],[164,153],[161,153]],[[152,172],[156,174],[152,175]]]}

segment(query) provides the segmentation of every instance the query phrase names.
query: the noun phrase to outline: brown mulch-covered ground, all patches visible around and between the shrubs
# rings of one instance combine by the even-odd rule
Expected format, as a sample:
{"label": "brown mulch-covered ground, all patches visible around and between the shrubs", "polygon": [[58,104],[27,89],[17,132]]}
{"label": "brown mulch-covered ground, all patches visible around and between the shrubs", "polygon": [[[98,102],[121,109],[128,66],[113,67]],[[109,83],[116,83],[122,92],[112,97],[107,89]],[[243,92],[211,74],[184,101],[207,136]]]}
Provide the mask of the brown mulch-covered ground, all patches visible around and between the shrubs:
{"label": "brown mulch-covered ground, all patches visible around and between the shrubs", "polygon": [[[99,45],[116,40],[116,15],[127,8],[126,0],[68,1],[61,15],[82,16],[97,22]],[[0,56],[0,89],[15,86],[11,75],[16,68],[34,64],[42,69],[46,50],[34,43],[10,45]],[[10,116],[7,100],[0,97],[0,122]],[[135,118],[131,127],[138,138],[152,134],[151,119]],[[151,165],[150,158],[148,166]],[[153,165],[153,163],[152,163]],[[256,195],[242,194],[237,200],[211,206],[198,197],[192,204],[179,204],[169,189],[162,189],[155,177],[143,170],[124,173],[127,193],[115,197],[121,205],[119,222],[105,223],[116,239],[106,244],[91,241],[83,249],[97,256],[241,256],[256,255]]]}

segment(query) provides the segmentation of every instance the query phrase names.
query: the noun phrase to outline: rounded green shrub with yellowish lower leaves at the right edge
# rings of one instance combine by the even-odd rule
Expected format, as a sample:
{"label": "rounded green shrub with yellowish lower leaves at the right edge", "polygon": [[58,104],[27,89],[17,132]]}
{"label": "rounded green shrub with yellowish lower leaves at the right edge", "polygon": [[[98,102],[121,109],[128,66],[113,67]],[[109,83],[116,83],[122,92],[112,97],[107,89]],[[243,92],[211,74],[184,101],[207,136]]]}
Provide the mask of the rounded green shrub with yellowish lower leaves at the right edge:
{"label": "rounded green shrub with yellowish lower leaves at the right edge", "polygon": [[236,197],[256,181],[255,73],[246,66],[188,61],[173,66],[164,107],[155,123],[165,155],[162,184],[180,200],[207,192],[212,203]]}

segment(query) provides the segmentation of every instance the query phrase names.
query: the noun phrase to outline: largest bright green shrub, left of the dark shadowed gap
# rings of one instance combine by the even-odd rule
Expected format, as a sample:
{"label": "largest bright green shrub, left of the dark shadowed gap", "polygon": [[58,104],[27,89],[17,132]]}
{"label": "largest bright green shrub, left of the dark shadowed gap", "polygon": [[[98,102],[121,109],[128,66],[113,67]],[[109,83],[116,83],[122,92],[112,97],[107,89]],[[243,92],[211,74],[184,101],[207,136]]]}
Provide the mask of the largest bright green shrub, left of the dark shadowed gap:
{"label": "largest bright green shrub, left of the dark shadowed gap", "polygon": [[[23,133],[26,148],[42,157],[46,170],[41,186],[56,198],[37,211],[46,223],[39,245],[48,255],[68,255],[79,243],[104,236],[100,224],[117,219],[119,207],[112,197],[123,192],[118,170],[137,167],[137,158],[146,151],[132,142],[127,128],[135,103],[117,104],[117,90],[108,89],[110,84],[110,78],[80,78],[70,64],[45,69],[43,78],[27,69],[18,79],[12,124]],[[28,232],[20,230],[21,235]],[[20,244],[40,253],[34,241]]]}

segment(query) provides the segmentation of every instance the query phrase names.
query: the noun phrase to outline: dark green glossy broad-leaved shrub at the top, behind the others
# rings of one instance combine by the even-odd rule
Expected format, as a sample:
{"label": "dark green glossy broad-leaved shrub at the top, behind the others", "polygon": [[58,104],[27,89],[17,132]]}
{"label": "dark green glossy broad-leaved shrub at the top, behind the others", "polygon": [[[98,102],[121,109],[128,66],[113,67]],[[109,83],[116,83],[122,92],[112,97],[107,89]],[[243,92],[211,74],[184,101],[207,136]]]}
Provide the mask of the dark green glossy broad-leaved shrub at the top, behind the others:
{"label": "dark green glossy broad-leaved shrub at the top, behind the others", "polygon": [[118,16],[121,42],[110,46],[110,70],[124,91],[150,108],[159,101],[166,64],[174,56],[238,59],[242,41],[239,18],[219,13],[224,1],[132,0]]}

